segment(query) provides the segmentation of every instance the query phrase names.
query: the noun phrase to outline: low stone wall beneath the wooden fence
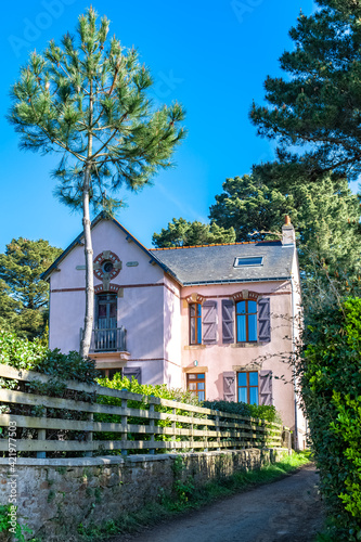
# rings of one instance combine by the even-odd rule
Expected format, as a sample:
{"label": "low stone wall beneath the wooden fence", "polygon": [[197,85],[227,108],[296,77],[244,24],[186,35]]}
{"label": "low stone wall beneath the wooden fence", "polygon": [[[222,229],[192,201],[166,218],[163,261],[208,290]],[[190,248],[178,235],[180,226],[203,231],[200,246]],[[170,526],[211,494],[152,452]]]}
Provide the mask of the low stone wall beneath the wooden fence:
{"label": "low stone wall beneath the wooden fence", "polygon": [[[195,486],[279,461],[288,450],[232,450],[183,454],[40,460],[18,457],[12,477],[0,459],[0,504],[16,479],[18,522],[47,542],[75,542],[77,527],[116,519],[171,493],[175,476]],[[183,467],[175,469],[176,457]],[[176,474],[175,474],[176,473]],[[13,487],[13,486],[12,486]]]}

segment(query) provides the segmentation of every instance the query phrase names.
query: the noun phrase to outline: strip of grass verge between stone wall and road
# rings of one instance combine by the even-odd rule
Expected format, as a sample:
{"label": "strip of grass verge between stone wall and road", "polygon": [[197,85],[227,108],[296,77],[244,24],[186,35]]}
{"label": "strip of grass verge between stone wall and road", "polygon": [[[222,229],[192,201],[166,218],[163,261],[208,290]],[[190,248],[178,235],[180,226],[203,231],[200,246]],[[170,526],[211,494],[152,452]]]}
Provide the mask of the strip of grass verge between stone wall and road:
{"label": "strip of grass verge between stone wall and road", "polygon": [[78,527],[79,539],[83,542],[100,542],[116,534],[138,532],[144,527],[157,525],[184,512],[198,509],[219,499],[279,480],[310,461],[310,452],[298,452],[273,465],[258,470],[240,472],[230,478],[210,481],[197,489],[194,489],[192,480],[176,481],[172,498],[159,495],[159,502],[153,502],[141,511],[106,521],[101,526],[91,525],[85,528],[80,525]]}

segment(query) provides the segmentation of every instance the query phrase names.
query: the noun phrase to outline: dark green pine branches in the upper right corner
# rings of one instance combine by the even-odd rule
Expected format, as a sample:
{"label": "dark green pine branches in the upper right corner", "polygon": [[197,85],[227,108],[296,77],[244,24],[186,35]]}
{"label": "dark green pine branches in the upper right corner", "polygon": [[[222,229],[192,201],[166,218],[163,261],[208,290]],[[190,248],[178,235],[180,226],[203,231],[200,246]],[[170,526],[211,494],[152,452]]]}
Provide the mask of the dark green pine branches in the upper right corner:
{"label": "dark green pine branches in the upper right corner", "polygon": [[357,177],[361,171],[361,3],[317,0],[311,15],[300,14],[289,36],[293,51],[281,56],[285,78],[268,77],[266,100],[253,104],[258,133],[301,154],[310,177],[326,171]]}

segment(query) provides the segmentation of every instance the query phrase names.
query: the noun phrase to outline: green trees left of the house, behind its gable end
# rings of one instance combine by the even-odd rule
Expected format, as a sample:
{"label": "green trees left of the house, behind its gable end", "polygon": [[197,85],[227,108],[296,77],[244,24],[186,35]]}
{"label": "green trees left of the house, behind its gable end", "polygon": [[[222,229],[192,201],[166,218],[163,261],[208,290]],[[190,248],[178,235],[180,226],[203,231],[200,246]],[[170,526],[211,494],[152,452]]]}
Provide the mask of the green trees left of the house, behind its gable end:
{"label": "green trees left of the house, behind its gable end", "polygon": [[0,254],[0,326],[34,338],[43,333],[49,285],[40,279],[62,253],[48,241],[13,238]]}

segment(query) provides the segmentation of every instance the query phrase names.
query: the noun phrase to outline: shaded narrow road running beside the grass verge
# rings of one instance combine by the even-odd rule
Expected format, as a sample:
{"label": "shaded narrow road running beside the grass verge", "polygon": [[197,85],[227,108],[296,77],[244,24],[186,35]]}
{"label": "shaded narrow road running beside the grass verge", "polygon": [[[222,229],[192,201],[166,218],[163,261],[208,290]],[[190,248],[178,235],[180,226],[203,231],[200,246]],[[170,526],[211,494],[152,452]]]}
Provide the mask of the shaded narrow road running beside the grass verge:
{"label": "shaded narrow road running beside the grass verge", "polygon": [[313,466],[112,542],[312,542],[323,512]]}

